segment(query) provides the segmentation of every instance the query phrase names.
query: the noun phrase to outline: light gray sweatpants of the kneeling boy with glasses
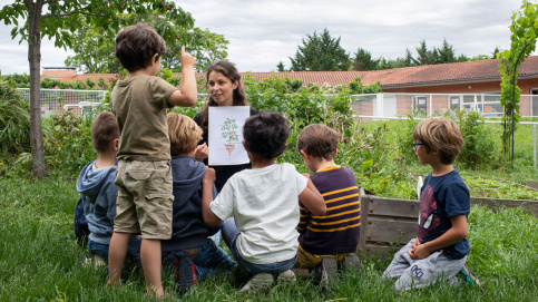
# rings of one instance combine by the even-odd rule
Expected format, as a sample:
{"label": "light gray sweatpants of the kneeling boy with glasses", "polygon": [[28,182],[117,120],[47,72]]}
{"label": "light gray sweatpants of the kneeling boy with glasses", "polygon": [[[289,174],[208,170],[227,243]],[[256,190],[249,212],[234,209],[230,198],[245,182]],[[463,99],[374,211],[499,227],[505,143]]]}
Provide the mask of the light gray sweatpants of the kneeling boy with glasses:
{"label": "light gray sweatpants of the kneeling boy with glasses", "polygon": [[394,283],[398,291],[424,288],[441,279],[458,286],[460,279],[456,274],[466,264],[467,256],[453,260],[446,257],[441,252],[434,252],[427,259],[414,260],[408,253],[414,241],[415,238],[411,240],[394,255],[383,273],[383,279],[398,277]]}

